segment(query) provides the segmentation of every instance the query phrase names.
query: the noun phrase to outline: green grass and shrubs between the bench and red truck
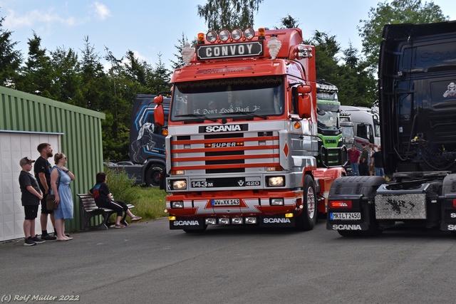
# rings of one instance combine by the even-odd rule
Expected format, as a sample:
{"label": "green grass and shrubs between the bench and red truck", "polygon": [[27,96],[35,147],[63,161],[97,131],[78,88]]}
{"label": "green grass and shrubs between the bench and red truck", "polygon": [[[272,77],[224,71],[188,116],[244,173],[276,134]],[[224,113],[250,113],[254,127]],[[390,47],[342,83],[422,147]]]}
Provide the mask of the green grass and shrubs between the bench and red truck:
{"label": "green grass and shrubs between the bench and red truck", "polygon": [[[108,187],[114,199],[121,199],[135,205],[133,214],[142,216],[141,221],[149,221],[166,216],[166,192],[153,187],[140,187],[125,172],[117,172],[105,167],[108,174]],[[115,214],[113,214],[115,216]],[[130,218],[127,218],[130,221]]]}

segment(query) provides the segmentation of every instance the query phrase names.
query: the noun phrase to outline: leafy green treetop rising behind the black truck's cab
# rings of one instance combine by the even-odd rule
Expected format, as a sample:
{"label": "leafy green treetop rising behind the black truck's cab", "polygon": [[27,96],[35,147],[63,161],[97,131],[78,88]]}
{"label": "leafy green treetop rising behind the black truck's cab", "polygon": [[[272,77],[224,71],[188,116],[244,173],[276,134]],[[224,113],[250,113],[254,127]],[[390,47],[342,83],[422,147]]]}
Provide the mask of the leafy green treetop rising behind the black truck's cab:
{"label": "leafy green treetop rising behind the black truck's cab", "polygon": [[371,69],[378,68],[378,53],[382,41],[383,26],[397,23],[432,23],[446,21],[448,16],[442,14],[440,6],[433,1],[422,4],[421,0],[385,1],[371,7],[367,20],[360,20],[358,33],[363,38],[363,53]]}

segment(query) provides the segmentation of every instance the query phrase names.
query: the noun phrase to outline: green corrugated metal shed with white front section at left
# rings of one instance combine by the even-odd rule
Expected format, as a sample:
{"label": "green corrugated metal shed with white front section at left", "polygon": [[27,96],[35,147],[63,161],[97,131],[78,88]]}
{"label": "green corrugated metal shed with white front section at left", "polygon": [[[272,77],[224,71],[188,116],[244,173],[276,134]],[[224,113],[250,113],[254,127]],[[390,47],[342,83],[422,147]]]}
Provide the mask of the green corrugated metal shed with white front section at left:
{"label": "green corrugated metal shed with white front section at left", "polygon": [[[74,216],[65,226],[67,231],[82,229],[76,194],[87,193],[95,184],[95,174],[103,171],[103,119],[101,112],[0,86],[0,241],[24,237],[19,159],[38,158],[36,147],[41,142],[49,142],[54,154],[63,152],[68,157],[76,180],[70,185]],[[53,158],[49,162],[53,164]],[[41,234],[40,213],[41,209],[37,234]]]}

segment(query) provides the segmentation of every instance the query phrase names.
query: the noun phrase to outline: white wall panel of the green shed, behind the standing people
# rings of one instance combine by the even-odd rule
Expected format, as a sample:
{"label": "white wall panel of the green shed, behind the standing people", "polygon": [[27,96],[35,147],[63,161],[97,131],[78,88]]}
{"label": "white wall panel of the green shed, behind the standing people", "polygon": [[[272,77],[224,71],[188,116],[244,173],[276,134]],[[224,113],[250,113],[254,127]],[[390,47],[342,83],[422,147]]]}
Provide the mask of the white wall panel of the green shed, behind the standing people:
{"label": "white wall panel of the green shed, behind the standing people", "polygon": [[[41,142],[51,144],[53,153],[60,151],[61,134],[0,132],[0,241],[24,238],[24,207],[19,188],[19,160],[22,157],[37,159],[36,147]],[[53,159],[49,159],[53,164]],[[33,167],[32,167],[32,174]],[[41,207],[35,221],[35,233],[41,234]],[[47,230],[53,231],[48,220]]]}

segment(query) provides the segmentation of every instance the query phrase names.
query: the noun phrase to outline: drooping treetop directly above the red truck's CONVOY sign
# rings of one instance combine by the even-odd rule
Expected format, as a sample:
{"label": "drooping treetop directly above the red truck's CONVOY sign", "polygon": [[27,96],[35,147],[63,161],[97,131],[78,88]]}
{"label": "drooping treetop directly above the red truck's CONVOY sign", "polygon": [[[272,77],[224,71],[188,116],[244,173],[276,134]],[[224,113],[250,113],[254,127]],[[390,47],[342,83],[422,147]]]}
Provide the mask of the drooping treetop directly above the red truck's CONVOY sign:
{"label": "drooping treetop directly above the red truck's CONVOY sign", "polygon": [[264,0],[207,0],[198,5],[198,16],[204,18],[207,27],[214,31],[247,28],[254,24],[254,11]]}

